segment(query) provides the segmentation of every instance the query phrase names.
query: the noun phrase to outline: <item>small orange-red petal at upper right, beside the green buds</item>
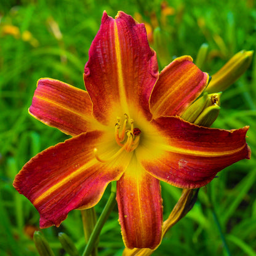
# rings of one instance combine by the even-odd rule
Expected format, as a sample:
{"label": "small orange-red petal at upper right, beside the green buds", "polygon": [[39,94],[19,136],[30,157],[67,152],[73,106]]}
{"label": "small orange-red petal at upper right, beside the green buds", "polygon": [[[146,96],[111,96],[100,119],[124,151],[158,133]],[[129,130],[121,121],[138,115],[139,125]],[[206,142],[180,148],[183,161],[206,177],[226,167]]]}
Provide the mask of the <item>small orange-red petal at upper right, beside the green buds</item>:
{"label": "small orange-red petal at upper right, beside the green buds", "polygon": [[182,114],[206,87],[208,74],[192,61],[190,56],[176,58],[162,70],[150,98],[154,119]]}

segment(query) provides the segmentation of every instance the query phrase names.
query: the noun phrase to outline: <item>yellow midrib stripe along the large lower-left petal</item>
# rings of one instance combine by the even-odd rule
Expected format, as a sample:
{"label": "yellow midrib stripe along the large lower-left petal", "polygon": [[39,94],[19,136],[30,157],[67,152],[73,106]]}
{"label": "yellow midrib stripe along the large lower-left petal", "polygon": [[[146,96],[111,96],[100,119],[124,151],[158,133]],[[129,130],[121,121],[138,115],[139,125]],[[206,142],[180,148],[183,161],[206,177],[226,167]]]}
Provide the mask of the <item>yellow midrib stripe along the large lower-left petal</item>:
{"label": "yellow midrib stripe along the large lower-left petal", "polygon": [[40,194],[38,198],[34,199],[33,204],[34,205],[38,204],[40,201],[42,201],[42,199],[46,198],[47,196],[50,196],[52,192],[60,188],[60,186],[63,186],[65,183],[69,182],[72,178],[78,176],[79,174],[84,172],[85,169],[92,167],[96,163],[97,163],[97,159],[92,159],[91,161],[87,162],[86,164],[81,166],[79,169],[75,170],[70,175],[63,178],[60,182],[55,183],[55,185],[51,186],[48,190],[44,191],[44,193]]}

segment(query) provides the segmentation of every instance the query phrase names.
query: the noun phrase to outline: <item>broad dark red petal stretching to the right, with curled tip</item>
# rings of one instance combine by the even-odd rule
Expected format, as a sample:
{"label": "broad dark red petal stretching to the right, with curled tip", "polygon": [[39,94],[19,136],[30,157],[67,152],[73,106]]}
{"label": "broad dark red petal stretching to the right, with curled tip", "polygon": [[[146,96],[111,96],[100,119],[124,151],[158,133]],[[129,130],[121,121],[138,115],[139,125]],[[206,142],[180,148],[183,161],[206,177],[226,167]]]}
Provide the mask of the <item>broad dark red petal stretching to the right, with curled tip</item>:
{"label": "broad dark red petal stretching to the right, with curled tip", "polygon": [[[250,158],[249,127],[219,130],[195,126],[180,118],[158,118],[158,142],[138,152],[142,166],[154,177],[180,188],[198,188],[217,172]],[[145,143],[146,145],[146,143]],[[137,150],[138,151],[138,150]]]}

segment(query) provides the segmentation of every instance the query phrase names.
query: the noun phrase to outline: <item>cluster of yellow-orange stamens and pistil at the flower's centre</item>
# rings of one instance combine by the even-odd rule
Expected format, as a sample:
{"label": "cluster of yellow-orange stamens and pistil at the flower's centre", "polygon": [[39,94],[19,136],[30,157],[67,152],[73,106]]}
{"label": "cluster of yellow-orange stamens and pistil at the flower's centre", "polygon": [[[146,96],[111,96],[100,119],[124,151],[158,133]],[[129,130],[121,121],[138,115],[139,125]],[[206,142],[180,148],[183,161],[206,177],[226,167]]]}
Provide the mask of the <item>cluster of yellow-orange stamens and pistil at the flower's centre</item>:
{"label": "cluster of yellow-orange stamens and pistil at the flower's centre", "polygon": [[124,114],[124,122],[121,125],[120,118],[117,118],[117,122],[114,126],[114,138],[116,143],[120,146],[119,150],[108,159],[102,159],[98,156],[97,148],[94,149],[95,158],[100,162],[113,161],[122,153],[122,151],[132,152],[140,143],[140,134],[142,131],[137,127],[134,127],[134,120],[129,119],[127,114]]}

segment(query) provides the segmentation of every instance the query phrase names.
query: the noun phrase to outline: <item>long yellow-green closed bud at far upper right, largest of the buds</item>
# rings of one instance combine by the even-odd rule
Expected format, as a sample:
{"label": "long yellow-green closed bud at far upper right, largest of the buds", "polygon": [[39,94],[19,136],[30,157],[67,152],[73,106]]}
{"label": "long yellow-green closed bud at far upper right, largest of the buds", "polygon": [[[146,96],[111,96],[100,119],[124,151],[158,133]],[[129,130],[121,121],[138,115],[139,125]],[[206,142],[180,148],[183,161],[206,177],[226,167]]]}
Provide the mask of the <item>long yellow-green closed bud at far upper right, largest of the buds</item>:
{"label": "long yellow-green closed bud at far upper right, largest of the buds", "polygon": [[206,91],[212,93],[226,90],[249,68],[253,54],[253,50],[241,50],[235,54],[217,73],[212,75],[212,81]]}

